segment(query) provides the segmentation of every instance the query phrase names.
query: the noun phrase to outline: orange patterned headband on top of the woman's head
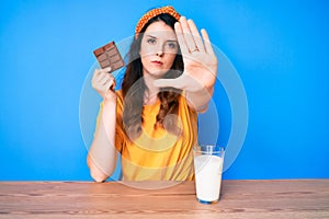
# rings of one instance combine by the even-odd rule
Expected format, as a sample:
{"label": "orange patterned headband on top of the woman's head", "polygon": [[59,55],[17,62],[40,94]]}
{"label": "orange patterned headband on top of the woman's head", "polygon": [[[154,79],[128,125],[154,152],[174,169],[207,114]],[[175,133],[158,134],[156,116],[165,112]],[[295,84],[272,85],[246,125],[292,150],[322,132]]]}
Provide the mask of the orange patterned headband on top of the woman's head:
{"label": "orange patterned headband on top of the woman's head", "polygon": [[170,15],[172,15],[175,20],[180,20],[181,15],[170,5],[168,7],[162,7],[162,8],[158,8],[158,9],[152,9],[148,12],[146,12],[138,21],[137,25],[136,25],[136,30],[135,30],[135,35],[137,36],[141,28],[144,27],[144,25],[152,18],[162,14],[162,13],[168,13]]}

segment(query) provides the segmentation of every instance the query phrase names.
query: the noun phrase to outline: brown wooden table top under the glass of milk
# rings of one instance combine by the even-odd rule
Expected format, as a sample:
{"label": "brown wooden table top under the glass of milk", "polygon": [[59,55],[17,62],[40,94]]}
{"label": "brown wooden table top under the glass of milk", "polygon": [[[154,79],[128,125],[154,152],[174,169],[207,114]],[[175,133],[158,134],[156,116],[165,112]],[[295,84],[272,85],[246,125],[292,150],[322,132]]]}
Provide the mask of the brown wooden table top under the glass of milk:
{"label": "brown wooden table top under the glass of milk", "polygon": [[1,182],[0,218],[329,218],[329,180],[224,181],[214,205],[194,182]]}

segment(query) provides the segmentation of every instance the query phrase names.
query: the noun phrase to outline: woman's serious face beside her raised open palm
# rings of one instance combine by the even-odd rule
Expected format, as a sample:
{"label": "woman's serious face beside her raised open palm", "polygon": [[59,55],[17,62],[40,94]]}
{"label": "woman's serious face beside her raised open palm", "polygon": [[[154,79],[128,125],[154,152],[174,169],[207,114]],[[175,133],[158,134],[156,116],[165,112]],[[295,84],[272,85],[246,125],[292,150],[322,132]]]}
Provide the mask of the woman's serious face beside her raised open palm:
{"label": "woman's serious face beside her raised open palm", "polygon": [[162,21],[151,23],[144,33],[139,50],[144,76],[162,78],[170,70],[178,49],[174,31]]}

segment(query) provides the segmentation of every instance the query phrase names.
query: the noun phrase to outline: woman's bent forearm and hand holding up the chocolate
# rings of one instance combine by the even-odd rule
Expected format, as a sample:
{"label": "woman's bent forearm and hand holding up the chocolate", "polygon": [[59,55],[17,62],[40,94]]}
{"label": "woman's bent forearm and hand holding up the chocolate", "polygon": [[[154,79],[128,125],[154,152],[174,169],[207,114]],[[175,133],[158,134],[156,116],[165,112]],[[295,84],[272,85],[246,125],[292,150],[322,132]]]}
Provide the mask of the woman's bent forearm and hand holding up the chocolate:
{"label": "woman's bent forearm and hand holding up the chocolate", "polygon": [[[109,80],[104,80],[104,77]],[[114,92],[114,78],[109,77],[105,70],[95,70],[92,87],[100,94],[103,92],[104,102],[99,113],[98,126],[88,152],[87,164],[90,169],[90,175],[97,182],[104,182],[112,175],[116,166],[116,94]],[[106,89],[106,91],[103,91],[104,89]]]}

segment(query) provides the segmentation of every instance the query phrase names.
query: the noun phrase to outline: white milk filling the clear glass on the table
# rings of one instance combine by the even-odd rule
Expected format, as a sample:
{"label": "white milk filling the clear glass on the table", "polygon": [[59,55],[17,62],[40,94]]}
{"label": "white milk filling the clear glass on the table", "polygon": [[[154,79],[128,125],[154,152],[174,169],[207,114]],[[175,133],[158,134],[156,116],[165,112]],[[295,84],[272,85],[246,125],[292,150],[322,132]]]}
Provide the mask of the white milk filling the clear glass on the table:
{"label": "white milk filling the clear glass on the table", "polygon": [[196,197],[203,201],[219,199],[223,158],[197,155],[194,158]]}

